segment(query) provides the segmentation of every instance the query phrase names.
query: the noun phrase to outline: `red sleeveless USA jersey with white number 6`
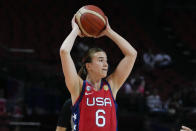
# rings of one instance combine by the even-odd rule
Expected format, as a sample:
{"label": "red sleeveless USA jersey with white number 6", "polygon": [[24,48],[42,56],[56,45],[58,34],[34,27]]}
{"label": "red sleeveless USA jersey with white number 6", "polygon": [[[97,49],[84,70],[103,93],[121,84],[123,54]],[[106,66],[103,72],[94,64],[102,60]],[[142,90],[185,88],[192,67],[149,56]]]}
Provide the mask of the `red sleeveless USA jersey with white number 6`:
{"label": "red sleeveless USA jersey with white number 6", "polygon": [[84,81],[72,109],[74,131],[117,131],[116,109],[117,104],[106,80],[101,81],[98,91]]}

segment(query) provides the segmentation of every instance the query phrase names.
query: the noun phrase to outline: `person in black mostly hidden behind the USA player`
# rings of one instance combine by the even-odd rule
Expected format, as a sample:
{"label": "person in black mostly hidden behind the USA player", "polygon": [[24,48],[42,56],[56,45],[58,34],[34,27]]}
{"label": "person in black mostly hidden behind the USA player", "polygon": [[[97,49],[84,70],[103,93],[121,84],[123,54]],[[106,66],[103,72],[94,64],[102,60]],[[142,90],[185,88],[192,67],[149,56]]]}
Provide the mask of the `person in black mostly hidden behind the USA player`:
{"label": "person in black mostly hidden behind the USA player", "polygon": [[63,107],[59,114],[56,131],[71,131],[72,130],[71,125],[73,125],[72,124],[73,122],[72,122],[72,117],[71,117],[72,116],[71,107],[72,107],[71,99],[68,99],[63,104]]}

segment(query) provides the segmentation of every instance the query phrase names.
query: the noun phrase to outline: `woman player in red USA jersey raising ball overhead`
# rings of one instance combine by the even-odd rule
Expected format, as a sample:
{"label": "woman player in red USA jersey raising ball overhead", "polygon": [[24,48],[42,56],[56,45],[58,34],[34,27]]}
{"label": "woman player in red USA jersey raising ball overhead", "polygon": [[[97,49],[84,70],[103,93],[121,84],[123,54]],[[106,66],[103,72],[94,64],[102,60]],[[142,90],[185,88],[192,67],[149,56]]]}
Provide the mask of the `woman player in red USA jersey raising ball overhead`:
{"label": "woman player in red USA jersey raising ball overhead", "polygon": [[106,29],[100,36],[107,36],[113,40],[124,58],[115,71],[107,76],[106,52],[100,48],[92,48],[83,58],[83,66],[77,74],[70,52],[76,37],[81,36],[81,32],[74,17],[72,31],[60,48],[65,83],[73,103],[74,131],[116,131],[116,95],[133,68],[137,51],[112,30],[107,22]]}

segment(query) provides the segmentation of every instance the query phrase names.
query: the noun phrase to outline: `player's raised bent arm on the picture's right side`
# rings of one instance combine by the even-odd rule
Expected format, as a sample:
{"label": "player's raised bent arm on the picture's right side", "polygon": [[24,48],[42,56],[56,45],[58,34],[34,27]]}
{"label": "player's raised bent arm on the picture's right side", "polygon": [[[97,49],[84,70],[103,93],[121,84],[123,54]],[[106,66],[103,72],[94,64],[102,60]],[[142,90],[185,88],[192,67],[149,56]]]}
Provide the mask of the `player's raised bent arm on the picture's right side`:
{"label": "player's raised bent arm on the picture's right side", "polygon": [[113,96],[115,98],[118,90],[126,81],[133,68],[137,57],[137,51],[127,40],[113,31],[110,28],[109,24],[104,34],[116,43],[116,45],[120,48],[124,55],[124,58],[119,62],[115,71],[107,78],[108,82],[111,85]]}

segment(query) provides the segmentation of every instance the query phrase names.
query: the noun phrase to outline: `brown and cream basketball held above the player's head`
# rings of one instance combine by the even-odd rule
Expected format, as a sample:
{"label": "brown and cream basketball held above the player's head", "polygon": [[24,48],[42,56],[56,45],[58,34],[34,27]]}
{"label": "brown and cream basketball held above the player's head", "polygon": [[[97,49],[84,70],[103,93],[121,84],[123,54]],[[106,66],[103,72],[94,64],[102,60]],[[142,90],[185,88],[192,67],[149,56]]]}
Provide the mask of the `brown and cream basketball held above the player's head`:
{"label": "brown and cream basketball held above the player's head", "polygon": [[86,5],[78,10],[75,16],[82,34],[87,37],[99,36],[106,28],[106,16],[97,6]]}

